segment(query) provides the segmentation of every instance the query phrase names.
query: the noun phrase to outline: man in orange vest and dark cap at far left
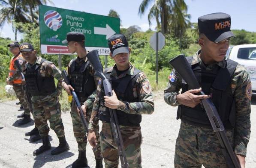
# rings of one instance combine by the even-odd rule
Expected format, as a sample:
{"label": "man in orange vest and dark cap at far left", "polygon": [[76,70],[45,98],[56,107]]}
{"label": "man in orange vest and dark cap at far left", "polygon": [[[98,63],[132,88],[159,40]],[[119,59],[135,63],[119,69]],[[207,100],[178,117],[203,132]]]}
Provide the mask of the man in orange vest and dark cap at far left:
{"label": "man in orange vest and dark cap at far left", "polygon": [[15,60],[18,59],[21,67],[24,67],[26,61],[24,60],[24,58],[20,54],[18,41],[15,41],[15,42],[12,42],[12,43],[8,44],[7,47],[9,47],[9,50],[14,55],[14,57],[12,57],[11,62],[10,62],[10,67],[9,67],[10,71],[9,71],[8,78],[6,78],[6,83],[8,85],[13,86],[13,89],[14,89],[21,105],[24,107],[24,113],[21,114],[21,115],[18,115],[18,118],[23,117],[23,119],[18,124],[19,125],[24,125],[24,124],[27,124],[28,122],[31,121],[30,111],[28,109],[26,101],[24,100],[24,89],[23,89],[23,86],[21,84],[21,75],[18,73],[18,70],[17,70],[14,62],[15,62]]}

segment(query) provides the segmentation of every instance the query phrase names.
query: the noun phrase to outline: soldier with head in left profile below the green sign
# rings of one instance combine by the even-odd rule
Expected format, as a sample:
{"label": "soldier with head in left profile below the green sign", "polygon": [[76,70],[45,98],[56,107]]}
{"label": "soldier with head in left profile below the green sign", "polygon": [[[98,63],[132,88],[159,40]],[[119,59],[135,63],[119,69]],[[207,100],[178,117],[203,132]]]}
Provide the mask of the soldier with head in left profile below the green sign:
{"label": "soldier with head in left profile below the green sign", "polygon": [[[75,91],[82,105],[81,108],[83,109],[84,117],[89,123],[99,79],[98,77],[94,76],[94,69],[86,57],[87,51],[84,47],[84,34],[79,32],[69,32],[66,35],[66,40],[62,41],[62,43],[68,44],[70,53],[78,54],[75,59],[72,59],[69,62],[67,69],[67,74],[71,85],[67,85],[63,80],[63,88],[69,95],[72,95],[70,90]],[[70,114],[79,152],[78,159],[72,163],[72,168],[83,168],[88,166],[86,158],[87,136],[81,123],[81,118],[77,111],[77,106],[75,105],[74,99],[72,99],[71,102]],[[93,153],[96,160],[96,168],[102,168],[102,156],[99,145],[99,127],[96,128],[96,135],[98,145],[93,149]]]}

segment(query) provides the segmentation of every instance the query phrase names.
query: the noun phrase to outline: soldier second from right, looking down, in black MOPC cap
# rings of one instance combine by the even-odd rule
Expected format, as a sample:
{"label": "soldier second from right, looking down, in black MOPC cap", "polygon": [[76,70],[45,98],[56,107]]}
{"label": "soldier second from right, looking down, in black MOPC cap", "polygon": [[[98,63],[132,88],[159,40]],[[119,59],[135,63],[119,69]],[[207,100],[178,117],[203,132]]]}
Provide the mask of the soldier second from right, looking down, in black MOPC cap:
{"label": "soldier second from right, looking down, in black MOPC cap", "polygon": [[109,109],[117,109],[117,118],[123,137],[124,150],[130,168],[141,168],[142,133],[140,122],[142,114],[154,112],[154,100],[147,76],[136,69],[130,62],[131,49],[124,35],[112,35],[108,39],[110,56],[115,65],[105,69],[105,76],[111,83],[113,96],[105,96],[101,80],[93,104],[89,124],[89,142],[94,147],[97,143],[94,130],[98,121],[102,121],[100,145],[105,168],[118,168],[119,155],[113,139]]}

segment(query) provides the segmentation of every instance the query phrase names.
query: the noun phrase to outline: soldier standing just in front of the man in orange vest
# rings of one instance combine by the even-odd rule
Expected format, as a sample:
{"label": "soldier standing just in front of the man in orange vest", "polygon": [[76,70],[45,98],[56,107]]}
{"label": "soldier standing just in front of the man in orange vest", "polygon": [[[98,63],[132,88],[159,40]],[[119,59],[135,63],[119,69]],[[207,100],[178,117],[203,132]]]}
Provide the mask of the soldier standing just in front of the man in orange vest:
{"label": "soldier standing just in front of the man in orange vest", "polygon": [[[60,141],[59,146],[52,150],[51,154],[56,155],[69,150],[69,145],[65,139],[58,99],[58,95],[62,91],[61,81],[63,78],[61,72],[52,62],[37,57],[36,50],[34,50],[32,44],[21,44],[20,51],[27,61],[24,76],[27,88],[32,95],[31,101],[35,125],[39,130],[43,143],[39,149],[33,152],[33,155],[39,155],[51,149],[47,120]],[[57,88],[55,87],[54,78],[58,80]]]}

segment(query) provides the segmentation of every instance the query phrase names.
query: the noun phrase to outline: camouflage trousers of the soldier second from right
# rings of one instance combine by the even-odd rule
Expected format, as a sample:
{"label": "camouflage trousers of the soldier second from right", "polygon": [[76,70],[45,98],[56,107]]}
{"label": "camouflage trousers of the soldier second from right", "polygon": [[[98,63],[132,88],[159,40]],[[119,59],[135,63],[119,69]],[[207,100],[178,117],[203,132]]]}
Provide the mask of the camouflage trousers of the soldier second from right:
{"label": "camouflage trousers of the soldier second from right", "polygon": [[[142,168],[141,127],[120,126],[120,131],[123,138],[127,162],[129,163],[130,168]],[[105,168],[118,168],[118,148],[114,142],[111,125],[105,122],[102,122],[100,146],[105,162]]]}

